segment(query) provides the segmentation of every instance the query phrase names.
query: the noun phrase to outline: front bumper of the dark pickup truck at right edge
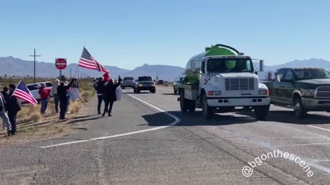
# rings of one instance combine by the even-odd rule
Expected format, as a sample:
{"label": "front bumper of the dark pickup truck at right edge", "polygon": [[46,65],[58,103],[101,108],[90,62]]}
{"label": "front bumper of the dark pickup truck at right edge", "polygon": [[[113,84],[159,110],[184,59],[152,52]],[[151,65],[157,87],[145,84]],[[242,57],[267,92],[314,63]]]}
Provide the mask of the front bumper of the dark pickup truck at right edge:
{"label": "front bumper of the dark pickup truck at right edge", "polygon": [[307,110],[330,111],[330,99],[301,98],[301,103]]}

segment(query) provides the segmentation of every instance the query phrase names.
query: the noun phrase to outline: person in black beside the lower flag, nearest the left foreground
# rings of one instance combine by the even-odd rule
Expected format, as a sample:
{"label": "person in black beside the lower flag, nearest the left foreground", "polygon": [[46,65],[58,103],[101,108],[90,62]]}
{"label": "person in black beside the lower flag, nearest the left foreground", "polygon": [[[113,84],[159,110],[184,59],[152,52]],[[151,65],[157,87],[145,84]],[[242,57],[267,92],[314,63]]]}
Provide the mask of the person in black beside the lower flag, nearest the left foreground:
{"label": "person in black beside the lower flag, nearest the left foreground", "polygon": [[8,117],[10,124],[12,125],[12,135],[17,134],[17,123],[16,123],[16,116],[17,112],[22,110],[21,101],[17,99],[17,97],[12,96],[12,93],[14,93],[16,86],[14,84],[9,85],[9,98],[7,101],[7,110],[8,110]]}

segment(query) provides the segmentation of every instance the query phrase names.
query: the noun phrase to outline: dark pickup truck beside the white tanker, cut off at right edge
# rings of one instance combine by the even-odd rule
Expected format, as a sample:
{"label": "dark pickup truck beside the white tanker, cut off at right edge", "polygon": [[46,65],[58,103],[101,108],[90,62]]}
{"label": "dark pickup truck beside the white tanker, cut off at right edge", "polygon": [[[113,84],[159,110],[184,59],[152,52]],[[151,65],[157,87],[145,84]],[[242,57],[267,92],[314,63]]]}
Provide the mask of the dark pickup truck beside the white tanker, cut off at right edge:
{"label": "dark pickup truck beside the white tanker, cut off at right edge", "polygon": [[323,67],[283,68],[265,83],[271,103],[290,106],[298,118],[309,111],[330,111],[330,71]]}

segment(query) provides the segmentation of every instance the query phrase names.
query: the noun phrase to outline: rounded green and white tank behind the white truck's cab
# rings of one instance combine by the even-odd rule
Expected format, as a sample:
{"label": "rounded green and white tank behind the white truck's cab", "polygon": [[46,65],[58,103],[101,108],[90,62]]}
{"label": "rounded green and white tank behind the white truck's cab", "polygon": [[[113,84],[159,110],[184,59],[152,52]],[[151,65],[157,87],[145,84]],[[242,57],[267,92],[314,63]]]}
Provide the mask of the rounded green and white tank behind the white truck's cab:
{"label": "rounded green and white tank behind the white truck's cab", "polygon": [[[200,53],[196,56],[190,58],[190,60],[186,64],[186,79],[184,79],[185,84],[198,84],[199,83],[199,73],[191,71],[191,62],[195,62],[196,71],[200,71],[201,69],[201,59],[207,56],[236,56],[236,54],[232,51],[236,51],[233,48],[225,48],[225,45],[212,45],[211,47],[206,47],[203,53]],[[236,51],[239,54],[238,51]]]}

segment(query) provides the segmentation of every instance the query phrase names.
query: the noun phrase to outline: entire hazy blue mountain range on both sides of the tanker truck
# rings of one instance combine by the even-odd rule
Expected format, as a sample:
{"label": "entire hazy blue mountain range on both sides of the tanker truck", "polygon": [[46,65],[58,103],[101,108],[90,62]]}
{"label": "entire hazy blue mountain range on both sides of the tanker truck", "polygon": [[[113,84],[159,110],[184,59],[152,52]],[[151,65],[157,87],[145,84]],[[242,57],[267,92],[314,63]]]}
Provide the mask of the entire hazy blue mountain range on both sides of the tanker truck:
{"label": "entire hazy blue mountain range on both sides of the tanker truck", "polygon": [[[266,61],[267,64],[267,61]],[[257,68],[259,64],[256,63]],[[327,60],[311,58],[309,60],[294,60],[292,62],[286,62],[284,64],[270,66],[265,65],[265,72],[260,72],[259,77],[261,79],[265,78],[267,71],[276,71],[276,69],[283,67],[298,67],[298,66],[325,66],[330,69],[330,62]],[[70,69],[72,70],[72,76],[74,76],[74,71],[76,70],[77,64],[69,64],[62,74],[70,77]],[[131,76],[138,77],[141,75],[152,76],[156,79],[158,75],[159,79],[164,79],[166,81],[173,81],[177,75],[184,73],[184,68],[179,66],[168,66],[168,65],[148,65],[138,66],[133,70],[120,69],[116,66],[106,66],[109,70],[111,77],[117,78],[118,75],[121,77]],[[98,71],[83,69],[78,67],[79,76],[88,75],[90,77],[99,77],[103,73]],[[77,75],[78,75],[77,73]],[[33,76],[33,61],[31,60],[21,60],[20,58],[0,57],[0,76],[19,76],[24,77],[27,75]],[[77,76],[76,75],[76,76]],[[54,62],[36,62],[36,76],[37,77],[57,77],[58,70],[55,69]]]}

